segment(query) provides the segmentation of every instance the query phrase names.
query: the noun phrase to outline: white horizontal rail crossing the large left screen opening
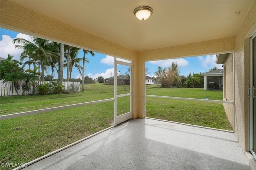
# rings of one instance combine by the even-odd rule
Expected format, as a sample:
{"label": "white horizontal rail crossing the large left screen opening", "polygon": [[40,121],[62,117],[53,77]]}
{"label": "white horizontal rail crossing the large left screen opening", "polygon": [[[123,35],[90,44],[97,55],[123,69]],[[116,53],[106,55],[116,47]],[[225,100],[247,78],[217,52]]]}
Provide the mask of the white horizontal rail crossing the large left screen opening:
{"label": "white horizontal rail crossing the large left screen opening", "polygon": [[33,111],[25,111],[25,112],[13,113],[13,114],[8,114],[8,115],[1,115],[0,120],[14,118],[14,117],[21,117],[21,116],[26,116],[26,115],[34,115],[34,114],[38,114],[38,113],[45,113],[47,111],[56,111],[56,110],[68,109],[68,108],[72,108],[72,107],[86,106],[86,105],[90,105],[90,104],[98,104],[98,103],[102,103],[102,102],[111,102],[111,101],[114,101],[114,98],[104,99],[104,100],[96,100],[96,101],[92,101],[92,102],[84,102],[84,103],[78,103],[78,104],[71,104],[71,105],[66,105],[66,106],[50,107],[50,108],[46,108],[46,109],[39,109],[39,110],[33,110]]}

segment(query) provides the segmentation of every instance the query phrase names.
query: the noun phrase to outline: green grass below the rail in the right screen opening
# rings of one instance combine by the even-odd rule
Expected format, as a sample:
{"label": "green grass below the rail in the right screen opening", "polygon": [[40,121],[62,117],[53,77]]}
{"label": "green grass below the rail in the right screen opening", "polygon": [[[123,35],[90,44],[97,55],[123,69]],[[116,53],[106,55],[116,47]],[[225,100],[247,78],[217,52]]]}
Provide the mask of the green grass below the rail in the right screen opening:
{"label": "green grass below the rail in the right screen opening", "polygon": [[146,97],[146,117],[232,130],[220,103]]}

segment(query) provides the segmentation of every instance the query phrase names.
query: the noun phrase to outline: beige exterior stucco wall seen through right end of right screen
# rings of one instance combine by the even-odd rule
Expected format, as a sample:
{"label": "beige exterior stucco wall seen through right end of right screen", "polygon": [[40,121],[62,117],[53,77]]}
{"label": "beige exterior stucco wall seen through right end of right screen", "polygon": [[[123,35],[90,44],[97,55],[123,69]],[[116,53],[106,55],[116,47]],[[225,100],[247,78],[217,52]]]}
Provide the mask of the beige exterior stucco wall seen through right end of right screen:
{"label": "beige exterior stucco wall seen through right end of right screen", "polygon": [[[228,54],[223,66],[223,98],[228,101],[233,101],[233,53]],[[223,106],[230,124],[233,125],[233,105],[224,103]]]}

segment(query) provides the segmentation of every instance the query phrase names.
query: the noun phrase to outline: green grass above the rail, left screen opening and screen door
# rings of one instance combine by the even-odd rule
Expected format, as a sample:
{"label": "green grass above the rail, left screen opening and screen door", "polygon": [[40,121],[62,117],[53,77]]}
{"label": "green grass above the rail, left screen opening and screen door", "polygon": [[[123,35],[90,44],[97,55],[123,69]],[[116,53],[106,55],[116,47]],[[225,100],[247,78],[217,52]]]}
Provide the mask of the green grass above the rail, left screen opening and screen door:
{"label": "green grass above the rail, left screen opening and screen door", "polygon": [[[126,85],[126,88],[130,86]],[[118,94],[126,93],[118,86]],[[113,85],[85,84],[84,92],[46,96],[0,96],[0,115],[114,98]]]}

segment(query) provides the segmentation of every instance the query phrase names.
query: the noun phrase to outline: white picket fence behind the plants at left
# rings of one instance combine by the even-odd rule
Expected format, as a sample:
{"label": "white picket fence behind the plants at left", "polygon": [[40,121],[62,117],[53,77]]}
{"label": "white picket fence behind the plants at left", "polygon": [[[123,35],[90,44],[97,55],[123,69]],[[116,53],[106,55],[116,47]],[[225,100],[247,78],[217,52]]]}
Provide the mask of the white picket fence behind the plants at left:
{"label": "white picket fence behind the plants at left", "polygon": [[[39,82],[36,81],[38,84],[43,84],[44,82]],[[45,83],[50,83],[50,81],[45,81]],[[72,91],[77,91],[80,92],[80,82],[63,82],[62,84],[64,87],[64,90],[72,90]],[[22,86],[17,90],[18,94],[22,94]],[[24,95],[32,94],[33,87],[30,88],[29,91],[25,91]],[[3,80],[0,80],[0,96],[13,96],[17,95],[14,87],[12,87],[11,82],[5,82],[3,83]]]}

